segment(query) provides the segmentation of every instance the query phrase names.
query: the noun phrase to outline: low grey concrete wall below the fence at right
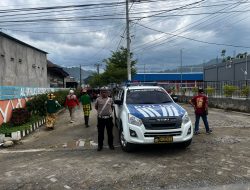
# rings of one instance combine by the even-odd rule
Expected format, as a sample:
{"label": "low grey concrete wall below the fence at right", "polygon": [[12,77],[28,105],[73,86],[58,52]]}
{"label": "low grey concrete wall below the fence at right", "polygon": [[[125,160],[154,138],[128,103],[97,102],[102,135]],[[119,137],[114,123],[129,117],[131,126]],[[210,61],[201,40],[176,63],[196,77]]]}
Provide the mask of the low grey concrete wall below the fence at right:
{"label": "low grey concrete wall below the fence at right", "polygon": [[[179,102],[188,103],[191,96],[179,96]],[[209,107],[250,113],[250,99],[210,98]]]}

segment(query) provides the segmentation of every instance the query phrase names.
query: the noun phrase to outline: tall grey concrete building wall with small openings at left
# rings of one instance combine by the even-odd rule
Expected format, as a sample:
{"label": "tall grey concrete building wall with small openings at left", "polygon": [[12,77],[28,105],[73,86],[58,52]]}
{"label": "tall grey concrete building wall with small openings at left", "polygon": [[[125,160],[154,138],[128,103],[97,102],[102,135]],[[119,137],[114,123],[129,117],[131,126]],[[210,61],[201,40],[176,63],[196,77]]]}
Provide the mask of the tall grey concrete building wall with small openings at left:
{"label": "tall grey concrete building wall with small openings at left", "polygon": [[0,86],[48,87],[46,53],[0,36]]}

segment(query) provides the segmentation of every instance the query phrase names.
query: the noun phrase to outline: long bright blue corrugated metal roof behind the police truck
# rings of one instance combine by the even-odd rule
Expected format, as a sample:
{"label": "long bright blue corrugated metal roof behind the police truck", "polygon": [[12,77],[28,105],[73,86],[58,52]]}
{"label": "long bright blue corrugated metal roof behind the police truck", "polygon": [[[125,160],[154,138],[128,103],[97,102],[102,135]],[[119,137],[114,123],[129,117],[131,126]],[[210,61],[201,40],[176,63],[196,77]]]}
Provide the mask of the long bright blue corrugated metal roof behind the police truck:
{"label": "long bright blue corrugated metal roof behind the police truck", "polygon": [[137,73],[133,81],[202,81],[203,73]]}

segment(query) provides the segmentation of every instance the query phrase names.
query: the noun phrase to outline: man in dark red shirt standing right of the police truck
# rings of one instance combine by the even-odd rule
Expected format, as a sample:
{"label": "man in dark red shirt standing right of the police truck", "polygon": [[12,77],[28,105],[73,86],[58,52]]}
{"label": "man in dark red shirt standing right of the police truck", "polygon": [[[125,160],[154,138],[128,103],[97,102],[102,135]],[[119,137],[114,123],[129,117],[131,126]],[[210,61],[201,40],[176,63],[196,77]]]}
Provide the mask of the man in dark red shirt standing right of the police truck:
{"label": "man in dark red shirt standing right of the police truck", "polygon": [[191,100],[189,100],[189,103],[194,107],[195,110],[195,129],[194,134],[198,135],[200,134],[199,131],[199,122],[200,117],[203,120],[203,123],[206,128],[206,133],[210,134],[212,130],[209,128],[208,121],[207,121],[207,115],[208,115],[208,98],[204,94],[204,91],[202,88],[198,89],[198,95],[194,96]]}

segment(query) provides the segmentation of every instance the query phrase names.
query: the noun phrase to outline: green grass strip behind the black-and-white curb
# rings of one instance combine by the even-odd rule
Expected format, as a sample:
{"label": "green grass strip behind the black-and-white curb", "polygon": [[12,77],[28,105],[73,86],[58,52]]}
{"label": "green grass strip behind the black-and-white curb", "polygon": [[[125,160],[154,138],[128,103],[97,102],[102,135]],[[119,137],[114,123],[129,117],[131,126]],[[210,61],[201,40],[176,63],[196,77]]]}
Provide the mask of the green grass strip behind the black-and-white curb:
{"label": "green grass strip behind the black-and-white curb", "polygon": [[26,129],[30,129],[30,125],[32,125],[33,123],[41,120],[42,117],[38,116],[38,115],[33,115],[31,116],[29,122],[23,124],[23,125],[19,125],[19,126],[14,126],[11,123],[3,123],[0,127],[0,133],[1,134],[10,134],[12,132],[16,132],[16,131],[23,131]]}

